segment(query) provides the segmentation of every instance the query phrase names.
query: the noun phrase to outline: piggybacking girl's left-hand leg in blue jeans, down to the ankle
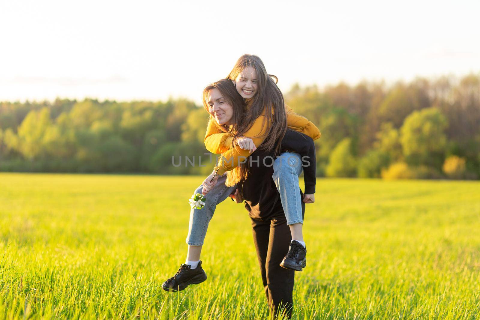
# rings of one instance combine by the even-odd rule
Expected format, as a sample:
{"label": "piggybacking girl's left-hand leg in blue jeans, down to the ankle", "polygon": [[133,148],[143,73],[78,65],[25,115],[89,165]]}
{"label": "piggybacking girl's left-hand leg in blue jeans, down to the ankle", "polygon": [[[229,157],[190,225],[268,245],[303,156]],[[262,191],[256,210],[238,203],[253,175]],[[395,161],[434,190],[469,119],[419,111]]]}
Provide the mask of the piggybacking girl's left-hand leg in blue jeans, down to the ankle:
{"label": "piggybacking girl's left-hand leg in blue jeans, down to the ankle", "polygon": [[[190,210],[190,222],[186,242],[188,244],[187,261],[199,261],[208,223],[215,213],[216,205],[235,192],[236,187],[227,187],[227,175],[218,177],[215,187],[205,196],[205,206],[202,209]],[[195,193],[202,193],[203,186],[198,187]]]}

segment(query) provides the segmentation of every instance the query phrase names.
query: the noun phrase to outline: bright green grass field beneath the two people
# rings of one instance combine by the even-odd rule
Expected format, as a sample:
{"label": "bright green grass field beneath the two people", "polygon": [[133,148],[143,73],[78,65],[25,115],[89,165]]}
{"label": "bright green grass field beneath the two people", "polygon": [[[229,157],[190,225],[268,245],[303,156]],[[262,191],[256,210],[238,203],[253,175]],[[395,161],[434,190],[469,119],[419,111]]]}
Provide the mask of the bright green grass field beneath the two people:
{"label": "bright green grass field beneath the two people", "polygon": [[[0,173],[0,318],[267,318],[250,219],[229,200],[207,281],[160,287],[185,259],[202,178]],[[317,183],[294,319],[480,319],[479,182]]]}

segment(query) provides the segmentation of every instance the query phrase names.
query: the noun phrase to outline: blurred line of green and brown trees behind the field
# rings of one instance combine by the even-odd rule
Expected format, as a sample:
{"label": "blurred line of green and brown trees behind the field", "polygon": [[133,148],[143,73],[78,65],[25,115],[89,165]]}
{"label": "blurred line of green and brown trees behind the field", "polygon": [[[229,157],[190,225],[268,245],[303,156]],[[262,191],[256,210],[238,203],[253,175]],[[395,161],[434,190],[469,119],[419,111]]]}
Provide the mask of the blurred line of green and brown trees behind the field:
{"label": "blurred line of green and brown trees behind the field", "polygon": [[[322,132],[318,176],[480,177],[480,74],[294,85],[285,100]],[[1,102],[0,171],[206,174],[207,119],[186,99]]]}

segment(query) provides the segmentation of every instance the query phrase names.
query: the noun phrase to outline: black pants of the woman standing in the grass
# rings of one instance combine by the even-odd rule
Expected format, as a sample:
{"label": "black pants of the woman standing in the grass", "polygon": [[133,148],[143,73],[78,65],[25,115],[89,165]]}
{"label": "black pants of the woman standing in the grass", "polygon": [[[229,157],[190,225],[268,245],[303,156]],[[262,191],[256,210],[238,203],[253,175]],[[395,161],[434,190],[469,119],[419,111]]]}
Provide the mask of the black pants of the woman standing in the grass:
{"label": "black pants of the woman standing in the grass", "polygon": [[[305,213],[303,202],[302,211]],[[282,211],[273,218],[251,219],[253,242],[257,249],[268,306],[274,317],[283,309],[285,315],[291,318],[295,272],[280,267],[292,238],[285,214]]]}

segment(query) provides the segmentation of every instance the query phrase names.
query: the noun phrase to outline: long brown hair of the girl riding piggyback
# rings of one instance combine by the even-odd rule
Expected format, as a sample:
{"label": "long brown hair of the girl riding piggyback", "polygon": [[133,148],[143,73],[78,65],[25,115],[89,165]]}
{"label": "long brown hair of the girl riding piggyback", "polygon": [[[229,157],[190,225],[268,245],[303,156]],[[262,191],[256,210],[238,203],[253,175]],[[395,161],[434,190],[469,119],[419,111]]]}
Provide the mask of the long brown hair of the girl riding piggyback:
{"label": "long brown hair of the girl riding piggyback", "polygon": [[[258,89],[252,99],[246,101],[250,108],[246,113],[245,119],[238,124],[237,129],[239,132],[247,132],[252,127],[255,119],[265,115],[266,121],[272,125],[261,148],[266,151],[275,150],[275,154],[279,154],[279,142],[287,131],[287,114],[282,92],[276,86],[278,78],[273,74],[267,73],[264,63],[258,56],[244,54],[237,60],[227,79],[235,81],[239,74],[248,67],[253,67],[257,73]],[[263,126],[266,125],[267,123],[264,122]]]}

